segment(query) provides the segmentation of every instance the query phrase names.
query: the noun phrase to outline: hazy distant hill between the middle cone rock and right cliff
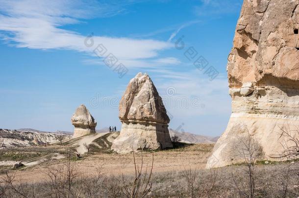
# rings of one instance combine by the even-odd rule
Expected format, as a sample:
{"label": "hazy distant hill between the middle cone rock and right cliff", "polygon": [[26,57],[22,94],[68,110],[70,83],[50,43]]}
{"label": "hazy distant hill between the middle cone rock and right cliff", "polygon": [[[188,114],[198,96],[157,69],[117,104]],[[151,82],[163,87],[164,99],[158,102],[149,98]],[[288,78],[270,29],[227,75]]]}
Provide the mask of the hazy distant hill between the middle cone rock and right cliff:
{"label": "hazy distant hill between the middle cone rock and right cliff", "polygon": [[169,129],[170,136],[173,137],[174,135],[181,138],[181,142],[185,143],[216,143],[218,137],[210,137],[204,135],[197,135],[189,132],[177,132],[173,129]]}

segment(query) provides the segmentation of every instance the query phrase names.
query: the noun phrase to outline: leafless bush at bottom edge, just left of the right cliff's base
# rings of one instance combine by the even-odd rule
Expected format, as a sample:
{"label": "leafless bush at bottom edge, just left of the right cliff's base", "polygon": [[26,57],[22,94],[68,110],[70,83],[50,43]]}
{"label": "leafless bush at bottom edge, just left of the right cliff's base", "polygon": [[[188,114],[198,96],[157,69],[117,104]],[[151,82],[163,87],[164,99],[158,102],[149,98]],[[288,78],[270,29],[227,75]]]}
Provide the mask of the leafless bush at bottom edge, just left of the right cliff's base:
{"label": "leafless bush at bottom edge, just left of the right cliff's base", "polygon": [[183,176],[185,180],[187,181],[187,189],[189,192],[189,195],[191,198],[194,198],[196,195],[196,184],[199,177],[199,168],[196,167],[195,169],[192,169],[191,166],[189,166],[188,169],[184,167]]}

